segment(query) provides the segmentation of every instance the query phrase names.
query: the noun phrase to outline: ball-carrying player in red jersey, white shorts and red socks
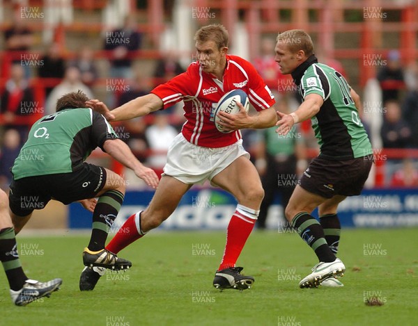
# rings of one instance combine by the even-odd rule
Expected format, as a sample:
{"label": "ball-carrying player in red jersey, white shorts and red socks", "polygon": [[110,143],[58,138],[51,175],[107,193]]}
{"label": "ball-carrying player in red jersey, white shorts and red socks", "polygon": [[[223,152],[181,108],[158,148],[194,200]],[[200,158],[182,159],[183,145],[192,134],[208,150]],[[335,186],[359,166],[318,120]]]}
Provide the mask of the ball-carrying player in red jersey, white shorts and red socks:
{"label": "ball-carrying player in red jersey, white shorts and red socks", "polygon": [[[274,126],[277,114],[274,97],[261,76],[247,60],[227,54],[228,32],[222,25],[203,26],[194,36],[196,62],[187,71],[167,83],[158,85],[150,94],[137,97],[113,111],[98,100],[86,104],[102,113],[109,121],[129,120],[184,102],[187,121],[173,140],[160,185],[149,206],[127,219],[107,245],[115,254],[158,227],[169,218],[180,199],[194,184],[207,179],[231,193],[238,206],[231,217],[222,262],[215,272],[216,288],[249,288],[251,276],[241,275],[235,263],[258,217],[264,190],[249,154],[242,147],[240,129]],[[226,93],[241,89],[258,113],[250,116],[241,104],[236,115],[218,113],[225,131],[219,132],[212,112]],[[199,160],[196,160],[199,154]],[[202,157],[205,156],[205,157]],[[100,272],[100,270],[98,270]],[[80,289],[92,290],[100,274],[86,269],[80,277]]]}

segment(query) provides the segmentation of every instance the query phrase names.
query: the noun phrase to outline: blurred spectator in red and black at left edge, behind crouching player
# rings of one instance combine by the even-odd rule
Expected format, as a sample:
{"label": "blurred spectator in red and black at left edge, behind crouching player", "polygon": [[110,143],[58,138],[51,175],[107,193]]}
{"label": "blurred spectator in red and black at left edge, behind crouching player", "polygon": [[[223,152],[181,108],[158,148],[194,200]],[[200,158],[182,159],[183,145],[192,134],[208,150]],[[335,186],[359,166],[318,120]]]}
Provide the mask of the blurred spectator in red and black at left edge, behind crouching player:
{"label": "blurred spectator in red and black at left edge, behind crouching player", "polygon": [[[29,116],[36,113],[36,109],[40,110],[38,106],[40,104],[34,101],[29,81],[24,76],[24,67],[14,63],[6,89],[1,95],[0,113],[3,114],[6,126],[19,131],[22,142],[26,140],[26,133],[31,126]],[[27,119],[22,119],[24,116]]]}

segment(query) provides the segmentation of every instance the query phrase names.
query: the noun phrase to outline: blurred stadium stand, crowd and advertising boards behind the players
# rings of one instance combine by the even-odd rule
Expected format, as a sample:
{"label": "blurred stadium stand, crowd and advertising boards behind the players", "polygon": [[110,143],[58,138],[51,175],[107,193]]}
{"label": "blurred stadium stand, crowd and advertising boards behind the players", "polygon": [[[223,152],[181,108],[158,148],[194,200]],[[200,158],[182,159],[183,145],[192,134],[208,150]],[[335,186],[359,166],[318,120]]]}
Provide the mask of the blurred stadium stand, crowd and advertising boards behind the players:
{"label": "blurred stadium stand, crowd and advertising boards behind the players", "polygon": [[[362,196],[341,204],[348,227],[418,225],[417,0],[0,0],[0,187],[33,122],[78,89],[109,108],[145,95],[196,60],[193,35],[224,24],[229,53],[249,60],[290,113],[300,97],[274,62],[277,33],[306,30],[321,63],[334,67],[362,97],[359,116],[376,164]],[[167,147],[184,122],[182,105],[113,124],[140,161],[162,172]],[[318,154],[310,122],[287,137],[243,131],[266,197],[259,229],[286,227],[283,206]],[[199,160],[199,157],[196,157]],[[133,173],[99,150],[88,161],[121,174],[127,185],[114,227],[153,195]],[[348,176],[349,177],[349,176]],[[235,199],[210,184],[194,186],[164,229],[224,229]],[[79,204],[50,202],[27,229],[88,229]]]}

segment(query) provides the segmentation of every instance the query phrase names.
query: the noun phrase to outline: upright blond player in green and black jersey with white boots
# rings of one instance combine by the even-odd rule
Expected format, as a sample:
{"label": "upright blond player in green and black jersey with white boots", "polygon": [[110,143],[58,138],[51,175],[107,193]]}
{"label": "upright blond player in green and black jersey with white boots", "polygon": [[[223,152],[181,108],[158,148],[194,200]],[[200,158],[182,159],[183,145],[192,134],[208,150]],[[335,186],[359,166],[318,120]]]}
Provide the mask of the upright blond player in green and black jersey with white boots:
{"label": "upright blond player in green and black jersey with white boots", "polygon": [[[293,124],[311,119],[320,145],[320,154],[309,163],[285,210],[319,259],[299,286],[343,286],[336,279],[346,270],[335,256],[341,231],[337,208],[347,196],[361,193],[373,164],[371,142],[357,111],[360,99],[339,72],[318,63],[304,31],[279,33],[274,51],[281,73],[293,76],[303,99],[290,115],[277,112],[277,132],[286,135]],[[311,216],[316,207],[320,222]]]}

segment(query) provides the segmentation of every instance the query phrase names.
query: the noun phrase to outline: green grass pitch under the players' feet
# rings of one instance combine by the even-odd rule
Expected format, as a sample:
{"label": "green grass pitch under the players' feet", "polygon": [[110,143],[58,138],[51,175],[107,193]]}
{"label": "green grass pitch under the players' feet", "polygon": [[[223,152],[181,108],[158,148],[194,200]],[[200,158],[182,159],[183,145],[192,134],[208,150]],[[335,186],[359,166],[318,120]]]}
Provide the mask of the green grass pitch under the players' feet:
{"label": "green grass pitch under the players' feet", "polygon": [[[119,254],[132,261],[132,270],[104,275],[94,291],[83,293],[78,282],[87,235],[18,236],[26,274],[61,277],[63,285],[49,299],[15,307],[1,273],[0,325],[418,325],[417,231],[343,231],[345,286],[314,289],[297,285],[316,263],[297,234],[254,231],[238,266],[256,283],[222,293],[212,279],[224,232],[149,234]],[[365,255],[364,246],[380,250]],[[193,247],[206,247],[206,255]],[[367,307],[371,295],[385,304]]]}

